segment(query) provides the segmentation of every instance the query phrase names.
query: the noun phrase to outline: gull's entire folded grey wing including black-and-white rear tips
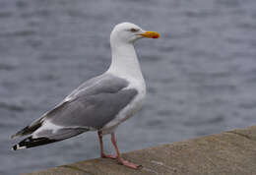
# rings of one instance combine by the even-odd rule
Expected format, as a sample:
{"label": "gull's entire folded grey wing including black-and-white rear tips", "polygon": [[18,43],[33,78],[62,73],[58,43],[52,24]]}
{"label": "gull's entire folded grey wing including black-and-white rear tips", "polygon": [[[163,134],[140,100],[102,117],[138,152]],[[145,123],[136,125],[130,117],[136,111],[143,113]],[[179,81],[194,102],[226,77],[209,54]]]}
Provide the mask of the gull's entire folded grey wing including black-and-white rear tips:
{"label": "gull's entire folded grey wing including black-and-white rear tips", "polygon": [[138,91],[110,74],[89,80],[43,117],[12,138],[31,135],[13,149],[42,146],[62,141],[89,130],[98,130],[114,119]]}

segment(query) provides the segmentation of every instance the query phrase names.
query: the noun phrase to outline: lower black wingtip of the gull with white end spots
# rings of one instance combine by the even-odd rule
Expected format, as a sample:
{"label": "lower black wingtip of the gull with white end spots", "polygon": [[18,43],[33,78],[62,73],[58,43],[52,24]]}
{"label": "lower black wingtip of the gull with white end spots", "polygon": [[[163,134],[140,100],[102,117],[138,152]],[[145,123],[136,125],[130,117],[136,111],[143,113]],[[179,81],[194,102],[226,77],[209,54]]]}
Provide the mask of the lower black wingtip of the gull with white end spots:
{"label": "lower black wingtip of the gull with white end spots", "polygon": [[19,144],[13,146],[13,150],[17,150],[17,149],[22,149],[22,148],[30,148],[30,147],[34,147],[34,146],[42,146],[42,145],[46,145],[46,144],[50,144],[50,143],[55,143],[58,142],[60,140],[52,140],[52,139],[48,139],[48,138],[32,138],[28,137],[25,140],[23,140],[22,142],[20,142]]}

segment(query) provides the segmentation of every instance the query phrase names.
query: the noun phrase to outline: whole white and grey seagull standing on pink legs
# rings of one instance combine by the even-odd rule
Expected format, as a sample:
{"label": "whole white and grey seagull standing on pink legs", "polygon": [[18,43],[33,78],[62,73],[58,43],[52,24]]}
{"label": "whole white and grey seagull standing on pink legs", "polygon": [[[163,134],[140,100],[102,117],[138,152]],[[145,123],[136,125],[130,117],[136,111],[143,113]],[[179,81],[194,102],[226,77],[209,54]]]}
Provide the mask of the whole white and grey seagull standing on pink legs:
{"label": "whole white and grey seagull standing on pink legs", "polygon": [[[131,23],[121,23],[110,34],[111,64],[106,72],[74,89],[52,110],[11,138],[28,136],[13,150],[63,141],[88,131],[96,131],[100,156],[117,159],[125,166],[140,165],[122,158],[115,139],[116,128],[141,109],[146,85],[134,42],[140,38],[159,38],[156,31],[146,31]],[[105,154],[102,137],[111,135],[116,154]]]}

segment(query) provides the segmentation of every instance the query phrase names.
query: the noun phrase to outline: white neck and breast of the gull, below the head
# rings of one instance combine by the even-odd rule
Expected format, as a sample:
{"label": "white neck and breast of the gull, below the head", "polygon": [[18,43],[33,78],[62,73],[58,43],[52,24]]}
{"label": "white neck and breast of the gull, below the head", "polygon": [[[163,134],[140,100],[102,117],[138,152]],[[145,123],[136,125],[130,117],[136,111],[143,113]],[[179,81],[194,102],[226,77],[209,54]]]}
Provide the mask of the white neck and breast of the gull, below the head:
{"label": "white neck and breast of the gull, below the head", "polygon": [[112,61],[107,73],[125,79],[129,82],[126,88],[135,88],[138,94],[125,106],[115,118],[102,128],[103,134],[109,134],[122,122],[133,116],[141,109],[146,96],[145,81],[141,72],[133,43],[111,42]]}

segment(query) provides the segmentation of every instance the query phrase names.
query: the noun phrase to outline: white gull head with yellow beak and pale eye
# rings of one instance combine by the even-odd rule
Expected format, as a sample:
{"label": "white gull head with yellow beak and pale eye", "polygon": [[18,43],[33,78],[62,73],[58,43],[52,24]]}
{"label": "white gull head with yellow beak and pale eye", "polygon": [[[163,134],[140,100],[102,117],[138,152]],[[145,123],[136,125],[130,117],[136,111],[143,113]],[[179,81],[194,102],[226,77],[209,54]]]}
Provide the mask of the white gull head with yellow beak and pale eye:
{"label": "white gull head with yellow beak and pale eye", "polygon": [[110,34],[110,43],[134,43],[144,37],[159,38],[157,31],[146,31],[131,23],[121,23],[114,27]]}

